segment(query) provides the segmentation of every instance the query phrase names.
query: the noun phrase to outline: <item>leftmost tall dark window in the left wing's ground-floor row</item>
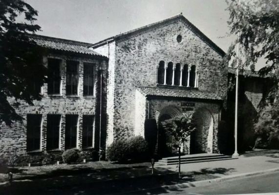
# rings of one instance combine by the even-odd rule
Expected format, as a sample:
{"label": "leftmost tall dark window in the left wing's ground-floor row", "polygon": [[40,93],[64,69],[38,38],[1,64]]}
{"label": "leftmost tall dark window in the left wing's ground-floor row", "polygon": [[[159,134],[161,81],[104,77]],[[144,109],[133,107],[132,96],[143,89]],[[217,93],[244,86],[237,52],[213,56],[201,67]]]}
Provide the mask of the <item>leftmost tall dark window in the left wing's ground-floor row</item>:
{"label": "leftmost tall dark window in the left wing's ground-floor row", "polygon": [[42,115],[27,115],[27,151],[41,149]]}

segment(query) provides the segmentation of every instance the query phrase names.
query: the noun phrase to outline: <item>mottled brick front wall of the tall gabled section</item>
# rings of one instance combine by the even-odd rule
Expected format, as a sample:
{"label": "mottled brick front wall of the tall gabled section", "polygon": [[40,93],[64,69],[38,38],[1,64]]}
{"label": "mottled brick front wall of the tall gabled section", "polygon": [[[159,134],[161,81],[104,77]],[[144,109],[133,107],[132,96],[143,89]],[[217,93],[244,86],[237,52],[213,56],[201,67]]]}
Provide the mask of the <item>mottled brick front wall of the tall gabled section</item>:
{"label": "mottled brick front wall of the tall gabled section", "polygon": [[[182,41],[176,41],[178,35]],[[135,89],[156,86],[159,62],[196,65],[199,90],[224,97],[227,68],[222,57],[182,20],[167,22],[116,41],[114,128],[117,137],[134,135]]]}

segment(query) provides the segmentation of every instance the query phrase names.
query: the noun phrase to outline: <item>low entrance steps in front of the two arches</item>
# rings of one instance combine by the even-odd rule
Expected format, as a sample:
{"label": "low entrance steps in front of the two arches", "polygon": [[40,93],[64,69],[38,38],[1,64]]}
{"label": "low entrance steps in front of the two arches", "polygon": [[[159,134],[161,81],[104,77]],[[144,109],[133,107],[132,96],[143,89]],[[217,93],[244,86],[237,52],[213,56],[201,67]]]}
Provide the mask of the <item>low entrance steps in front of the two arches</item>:
{"label": "low entrance steps in front of the two arches", "polygon": [[[236,159],[237,157],[220,155],[220,154],[194,154],[194,155],[184,155],[181,156],[181,164],[188,163],[197,163],[197,162],[209,162],[209,161],[217,161],[217,160],[231,160]],[[158,164],[160,165],[174,165],[178,164],[178,156],[165,157],[158,160]]]}

